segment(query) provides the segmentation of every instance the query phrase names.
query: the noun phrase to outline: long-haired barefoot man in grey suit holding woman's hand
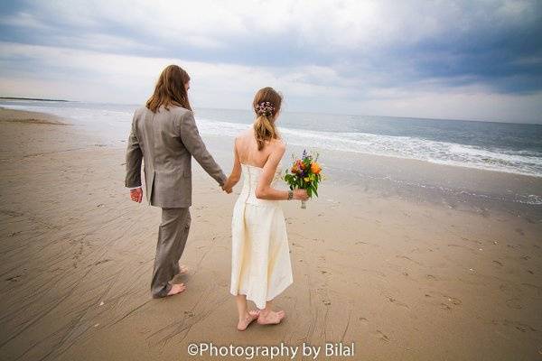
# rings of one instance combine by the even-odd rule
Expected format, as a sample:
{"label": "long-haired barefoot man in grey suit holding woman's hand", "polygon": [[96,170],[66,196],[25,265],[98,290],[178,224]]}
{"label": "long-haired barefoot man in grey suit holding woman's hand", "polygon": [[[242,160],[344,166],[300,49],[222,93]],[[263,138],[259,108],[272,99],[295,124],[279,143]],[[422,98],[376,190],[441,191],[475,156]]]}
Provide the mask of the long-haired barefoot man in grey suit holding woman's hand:
{"label": "long-haired barefoot man in grey suit holding woman's hand", "polygon": [[179,260],[191,224],[192,156],[221,187],[227,178],[201,140],[188,102],[189,81],[186,71],[176,65],[164,69],[154,95],[135,111],[126,150],[126,187],[131,199],[143,199],[143,161],[148,203],[162,208],[151,282],[154,298],[185,289],[183,283],[170,281],[186,272]]}

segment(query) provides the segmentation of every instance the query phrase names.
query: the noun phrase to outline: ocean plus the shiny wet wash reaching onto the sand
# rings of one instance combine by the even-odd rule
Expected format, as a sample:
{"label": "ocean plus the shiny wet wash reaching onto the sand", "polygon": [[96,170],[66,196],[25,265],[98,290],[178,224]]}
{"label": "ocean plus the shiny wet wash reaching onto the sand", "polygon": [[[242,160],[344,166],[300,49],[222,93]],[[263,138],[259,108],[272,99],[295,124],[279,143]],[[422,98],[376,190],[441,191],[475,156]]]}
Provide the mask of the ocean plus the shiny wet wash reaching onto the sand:
{"label": "ocean plus the shiny wet wash reaching onto the sand", "polygon": [[[92,139],[121,147],[126,146],[137,107],[21,100],[0,100],[0,106],[68,118]],[[211,153],[228,171],[232,137],[248,129],[253,114],[205,108],[194,113],[200,133],[209,135]],[[326,187],[349,184],[378,197],[482,212],[499,208],[542,221],[542,125],[288,112],[278,122],[289,153],[321,153]],[[424,162],[453,167],[416,165]]]}

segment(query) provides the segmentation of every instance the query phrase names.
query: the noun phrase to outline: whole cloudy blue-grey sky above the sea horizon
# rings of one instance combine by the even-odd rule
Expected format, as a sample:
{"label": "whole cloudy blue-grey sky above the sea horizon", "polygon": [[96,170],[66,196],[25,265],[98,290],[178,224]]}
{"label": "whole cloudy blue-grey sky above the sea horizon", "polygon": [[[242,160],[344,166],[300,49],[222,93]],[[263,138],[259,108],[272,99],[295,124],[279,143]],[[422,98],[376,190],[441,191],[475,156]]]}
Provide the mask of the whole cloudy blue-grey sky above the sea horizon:
{"label": "whole cloudy blue-grey sky above the sea horizon", "polygon": [[0,3],[0,95],[143,103],[165,65],[193,106],[542,123],[542,2]]}

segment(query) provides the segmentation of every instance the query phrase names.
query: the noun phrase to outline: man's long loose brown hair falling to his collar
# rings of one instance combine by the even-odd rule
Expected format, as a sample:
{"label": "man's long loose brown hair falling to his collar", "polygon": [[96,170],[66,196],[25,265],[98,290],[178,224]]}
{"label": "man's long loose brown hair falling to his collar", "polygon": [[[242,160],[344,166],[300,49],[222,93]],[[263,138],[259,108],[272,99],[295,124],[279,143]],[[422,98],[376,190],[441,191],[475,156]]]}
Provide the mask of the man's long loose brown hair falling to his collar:
{"label": "man's long loose brown hair falling to his collar", "polygon": [[188,93],[184,84],[190,81],[190,76],[178,65],[168,65],[162,70],[160,78],[154,87],[154,94],[149,97],[146,107],[156,113],[160,106],[182,106],[192,110],[188,101]]}

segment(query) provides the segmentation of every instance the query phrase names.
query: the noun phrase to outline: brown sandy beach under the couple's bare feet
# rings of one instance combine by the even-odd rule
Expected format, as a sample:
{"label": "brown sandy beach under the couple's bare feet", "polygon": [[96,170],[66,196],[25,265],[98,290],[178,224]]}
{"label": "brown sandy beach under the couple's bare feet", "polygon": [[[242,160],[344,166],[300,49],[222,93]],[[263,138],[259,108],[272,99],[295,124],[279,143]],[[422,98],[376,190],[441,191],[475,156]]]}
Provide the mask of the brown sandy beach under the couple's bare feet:
{"label": "brown sandy beach under the couple's bare feet", "polygon": [[[187,291],[154,300],[160,209],[130,201],[124,163],[124,148],[69,119],[0,111],[1,359],[219,359],[188,356],[204,342],[305,343],[322,347],[319,359],[326,342],[355,346],[354,356],[329,359],[542,357],[539,213],[322,184],[307,209],[284,203],[294,284],[276,307],[286,319],[238,332],[229,266],[240,185],[223,194],[194,162],[182,256],[191,271],[179,280]],[[477,174],[483,182],[494,173]]]}

